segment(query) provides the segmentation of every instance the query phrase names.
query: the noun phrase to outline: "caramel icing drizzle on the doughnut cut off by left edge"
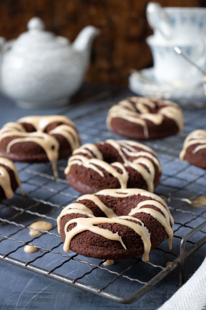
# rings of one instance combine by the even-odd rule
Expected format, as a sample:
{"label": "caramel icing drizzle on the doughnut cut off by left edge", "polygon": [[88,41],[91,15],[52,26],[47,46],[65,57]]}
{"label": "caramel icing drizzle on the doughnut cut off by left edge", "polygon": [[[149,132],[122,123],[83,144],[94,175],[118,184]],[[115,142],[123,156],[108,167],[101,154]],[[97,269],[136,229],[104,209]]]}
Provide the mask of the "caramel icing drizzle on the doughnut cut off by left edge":
{"label": "caramel icing drizzle on the doughnut cut off by left edge", "polygon": [[[13,162],[11,162],[9,159],[5,158],[1,153],[0,153],[0,164],[9,167],[13,172],[15,176],[16,183],[18,184],[19,190],[22,195],[24,195],[22,189],[21,189],[21,183],[19,181],[19,176],[17,169]],[[8,171],[0,166],[0,186],[2,187],[4,194],[7,199],[11,199],[14,196],[14,192],[11,188],[11,179]]]}

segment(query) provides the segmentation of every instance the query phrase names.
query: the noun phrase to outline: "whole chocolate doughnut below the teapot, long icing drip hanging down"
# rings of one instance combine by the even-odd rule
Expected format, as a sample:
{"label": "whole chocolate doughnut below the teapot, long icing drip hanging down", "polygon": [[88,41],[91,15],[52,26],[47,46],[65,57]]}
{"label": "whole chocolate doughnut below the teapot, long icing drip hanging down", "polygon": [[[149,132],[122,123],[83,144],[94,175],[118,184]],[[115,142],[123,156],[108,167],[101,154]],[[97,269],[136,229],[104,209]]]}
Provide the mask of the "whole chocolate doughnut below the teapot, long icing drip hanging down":
{"label": "whole chocolate doughnut below the teapot, long icing drip hanging down", "polygon": [[50,161],[57,176],[57,159],[80,145],[74,123],[62,115],[27,116],[0,130],[0,152],[17,162]]}

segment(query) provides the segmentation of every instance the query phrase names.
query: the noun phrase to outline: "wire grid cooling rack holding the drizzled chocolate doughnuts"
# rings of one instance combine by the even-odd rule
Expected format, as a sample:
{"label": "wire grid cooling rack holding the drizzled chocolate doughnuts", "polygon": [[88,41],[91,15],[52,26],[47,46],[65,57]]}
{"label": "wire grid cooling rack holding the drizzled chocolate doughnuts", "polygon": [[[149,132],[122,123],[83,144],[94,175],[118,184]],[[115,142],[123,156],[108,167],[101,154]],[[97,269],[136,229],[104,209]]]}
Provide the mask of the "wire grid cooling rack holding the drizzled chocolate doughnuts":
{"label": "wire grid cooling rack holding the drizzled chocolate doughnuts", "polygon": [[[102,100],[78,107],[79,113],[72,119],[82,143],[120,139],[107,131],[105,125],[110,106],[109,100]],[[155,193],[165,197],[174,217],[171,251],[165,240],[150,253],[149,263],[133,258],[116,261],[110,267],[104,267],[104,260],[85,258],[72,251],[65,253],[57,233],[56,218],[64,206],[80,195],[67,184],[64,176],[67,161],[61,160],[57,182],[49,163],[16,163],[27,196],[22,197],[17,190],[12,200],[0,204],[0,259],[119,303],[136,301],[178,266],[181,267],[180,283],[183,283],[185,259],[206,242],[206,205],[194,202],[199,207],[191,206],[191,197],[195,201],[205,195],[206,171],[179,160],[186,135],[197,128],[206,128],[206,111],[185,109],[184,115],[186,123],[181,137],[145,143],[158,153],[163,168]],[[30,225],[40,219],[51,222],[54,228],[31,237]],[[38,251],[24,253],[26,244]],[[166,267],[168,261],[170,264]],[[75,271],[72,277],[68,269]]]}

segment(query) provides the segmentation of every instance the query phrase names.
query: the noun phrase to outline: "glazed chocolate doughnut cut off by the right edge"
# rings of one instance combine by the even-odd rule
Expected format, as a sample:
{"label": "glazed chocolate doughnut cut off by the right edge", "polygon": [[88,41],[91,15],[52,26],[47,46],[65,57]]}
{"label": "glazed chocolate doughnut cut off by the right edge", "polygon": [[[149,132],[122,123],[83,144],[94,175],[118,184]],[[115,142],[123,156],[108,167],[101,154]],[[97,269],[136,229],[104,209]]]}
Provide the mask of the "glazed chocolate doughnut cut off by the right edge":
{"label": "glazed chocolate doughnut cut off by the right edge", "polygon": [[206,130],[192,131],[184,141],[183,149],[179,154],[183,160],[206,169]]}

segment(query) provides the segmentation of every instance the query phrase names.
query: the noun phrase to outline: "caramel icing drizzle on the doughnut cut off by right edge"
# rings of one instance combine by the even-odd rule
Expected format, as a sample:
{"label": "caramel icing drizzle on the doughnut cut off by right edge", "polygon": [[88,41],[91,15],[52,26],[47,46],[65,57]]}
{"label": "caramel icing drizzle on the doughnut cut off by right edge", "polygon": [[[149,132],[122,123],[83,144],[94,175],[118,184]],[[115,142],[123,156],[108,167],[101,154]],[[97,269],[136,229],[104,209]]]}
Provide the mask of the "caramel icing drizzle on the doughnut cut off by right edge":
{"label": "caramel icing drizzle on the doughnut cut off by right edge", "polygon": [[184,159],[187,148],[193,144],[199,144],[192,151],[193,154],[197,153],[203,148],[206,148],[206,130],[198,129],[192,131],[184,141],[183,149],[179,154],[180,159]]}

